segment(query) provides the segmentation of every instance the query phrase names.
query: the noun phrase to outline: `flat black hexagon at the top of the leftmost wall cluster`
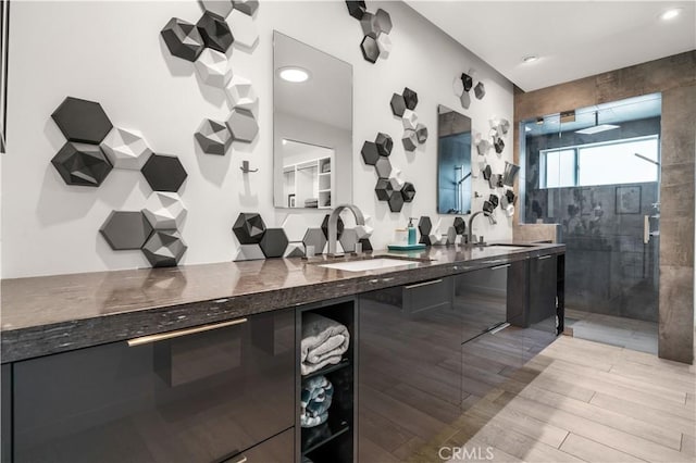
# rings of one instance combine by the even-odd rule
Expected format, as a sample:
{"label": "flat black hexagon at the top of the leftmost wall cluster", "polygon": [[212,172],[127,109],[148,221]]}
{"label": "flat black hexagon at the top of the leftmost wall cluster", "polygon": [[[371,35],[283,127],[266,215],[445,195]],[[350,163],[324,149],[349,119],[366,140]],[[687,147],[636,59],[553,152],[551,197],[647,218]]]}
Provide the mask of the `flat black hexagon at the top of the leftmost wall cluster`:
{"label": "flat black hexagon at the top of the leftmost wall cluster", "polygon": [[101,143],[113,125],[101,104],[67,97],[51,114],[55,125],[70,141]]}

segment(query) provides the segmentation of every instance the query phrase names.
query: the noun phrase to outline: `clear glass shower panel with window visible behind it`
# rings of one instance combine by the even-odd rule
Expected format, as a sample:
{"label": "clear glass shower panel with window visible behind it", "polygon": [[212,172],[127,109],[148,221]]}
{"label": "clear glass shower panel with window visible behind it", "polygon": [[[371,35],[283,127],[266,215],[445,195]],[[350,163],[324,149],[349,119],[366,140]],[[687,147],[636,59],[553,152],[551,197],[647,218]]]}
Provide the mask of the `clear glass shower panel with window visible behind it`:
{"label": "clear glass shower panel with window visible behind it", "polygon": [[[647,351],[657,348],[660,114],[659,93],[576,109],[523,124],[521,143],[524,222],[561,225],[570,316],[604,320],[613,340],[602,341]],[[631,329],[611,331],[620,326]]]}

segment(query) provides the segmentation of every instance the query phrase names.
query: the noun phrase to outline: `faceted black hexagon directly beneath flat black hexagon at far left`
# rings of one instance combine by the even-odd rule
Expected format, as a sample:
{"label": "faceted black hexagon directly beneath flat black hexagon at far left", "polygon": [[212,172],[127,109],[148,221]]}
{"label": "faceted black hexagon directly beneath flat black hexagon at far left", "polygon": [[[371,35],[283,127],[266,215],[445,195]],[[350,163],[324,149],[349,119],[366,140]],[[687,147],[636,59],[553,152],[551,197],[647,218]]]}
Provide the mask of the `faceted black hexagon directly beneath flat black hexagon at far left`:
{"label": "faceted black hexagon directly beneath flat black hexagon at far left", "polygon": [[98,187],[112,165],[99,145],[69,141],[51,160],[67,185]]}

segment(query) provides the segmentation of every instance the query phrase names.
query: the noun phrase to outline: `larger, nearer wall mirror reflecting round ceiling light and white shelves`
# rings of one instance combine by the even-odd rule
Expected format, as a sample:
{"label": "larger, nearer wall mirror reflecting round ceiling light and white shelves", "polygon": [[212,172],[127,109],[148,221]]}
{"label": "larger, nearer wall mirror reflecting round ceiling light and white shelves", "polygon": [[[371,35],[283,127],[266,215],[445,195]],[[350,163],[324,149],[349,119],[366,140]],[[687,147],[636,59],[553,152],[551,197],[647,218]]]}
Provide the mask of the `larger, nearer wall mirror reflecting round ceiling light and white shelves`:
{"label": "larger, nearer wall mirror reflecting round ceiling light and white shelves", "polygon": [[276,208],[352,202],[352,66],[273,33]]}

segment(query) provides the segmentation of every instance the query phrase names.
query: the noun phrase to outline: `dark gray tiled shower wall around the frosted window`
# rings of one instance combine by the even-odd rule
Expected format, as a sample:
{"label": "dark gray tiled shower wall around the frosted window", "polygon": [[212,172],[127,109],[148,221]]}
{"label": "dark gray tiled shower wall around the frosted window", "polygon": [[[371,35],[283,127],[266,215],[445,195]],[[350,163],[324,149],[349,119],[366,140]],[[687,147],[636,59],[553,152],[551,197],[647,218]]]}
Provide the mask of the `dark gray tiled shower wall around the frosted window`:
{"label": "dark gray tiled shower wall around the frosted window", "polygon": [[[619,214],[617,185],[538,188],[539,150],[660,133],[660,118],[621,123],[621,128],[595,136],[564,133],[526,139],[524,222],[561,224],[567,245],[566,305],[608,315],[657,322],[659,238],[643,245],[644,215],[652,215],[658,183],[639,187],[637,214]],[[656,225],[652,222],[652,228]]]}

